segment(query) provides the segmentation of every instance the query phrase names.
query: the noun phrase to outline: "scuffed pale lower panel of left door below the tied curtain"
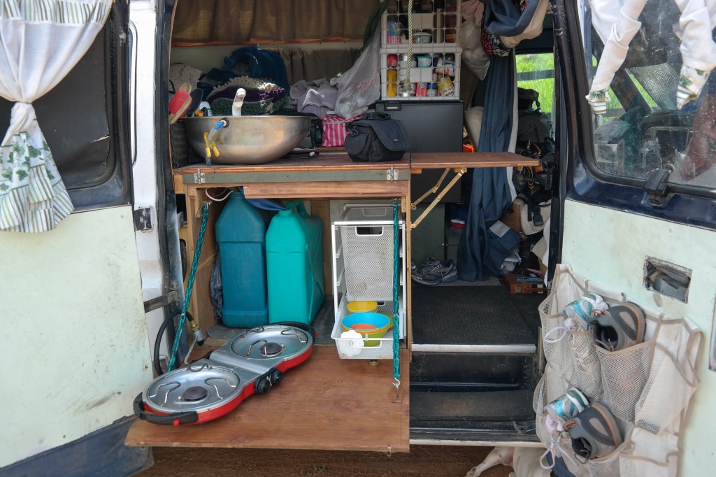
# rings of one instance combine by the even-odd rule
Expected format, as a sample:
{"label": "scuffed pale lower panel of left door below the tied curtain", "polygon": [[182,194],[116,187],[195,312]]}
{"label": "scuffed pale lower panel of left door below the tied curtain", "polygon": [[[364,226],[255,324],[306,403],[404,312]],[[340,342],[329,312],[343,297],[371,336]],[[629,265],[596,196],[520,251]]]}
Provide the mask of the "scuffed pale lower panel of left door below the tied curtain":
{"label": "scuffed pale lower panel of left door below the tied curtain", "polygon": [[0,256],[2,468],[131,415],[152,363],[130,206],[2,233]]}

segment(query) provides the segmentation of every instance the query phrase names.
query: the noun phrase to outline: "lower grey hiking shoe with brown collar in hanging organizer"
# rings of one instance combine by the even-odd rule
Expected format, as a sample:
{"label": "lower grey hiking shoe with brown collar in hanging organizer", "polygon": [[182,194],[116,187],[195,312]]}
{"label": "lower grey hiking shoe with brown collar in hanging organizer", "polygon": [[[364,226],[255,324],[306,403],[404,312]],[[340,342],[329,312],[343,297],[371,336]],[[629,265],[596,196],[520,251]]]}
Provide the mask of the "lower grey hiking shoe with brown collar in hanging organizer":
{"label": "lower grey hiking shoe with brown collar in hanging organizer", "polygon": [[614,415],[596,401],[569,420],[564,428],[569,432],[574,453],[585,459],[608,456],[622,442]]}

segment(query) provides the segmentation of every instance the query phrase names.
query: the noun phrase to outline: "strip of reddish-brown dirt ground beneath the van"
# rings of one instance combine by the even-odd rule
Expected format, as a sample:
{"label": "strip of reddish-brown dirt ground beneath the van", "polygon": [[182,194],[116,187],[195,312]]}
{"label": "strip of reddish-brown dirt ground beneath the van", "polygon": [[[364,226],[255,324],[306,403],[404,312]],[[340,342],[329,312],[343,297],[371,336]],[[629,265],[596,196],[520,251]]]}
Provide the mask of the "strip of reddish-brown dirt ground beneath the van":
{"label": "strip of reddish-brown dirt ground beneath the van", "polygon": [[[154,448],[154,466],[139,477],[463,477],[488,447],[413,445],[410,453],[223,448]],[[507,477],[495,466],[485,477]]]}

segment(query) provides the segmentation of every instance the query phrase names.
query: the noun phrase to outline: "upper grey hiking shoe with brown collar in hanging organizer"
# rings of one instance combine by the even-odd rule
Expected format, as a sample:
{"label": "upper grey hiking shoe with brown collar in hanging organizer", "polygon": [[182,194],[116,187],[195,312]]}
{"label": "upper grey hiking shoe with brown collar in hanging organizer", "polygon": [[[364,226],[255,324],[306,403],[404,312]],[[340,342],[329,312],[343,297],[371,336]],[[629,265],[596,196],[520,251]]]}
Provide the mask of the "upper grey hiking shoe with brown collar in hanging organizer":
{"label": "upper grey hiking shoe with brown collar in hanging organizer", "polygon": [[615,305],[591,320],[594,342],[605,350],[624,350],[644,342],[647,322],[637,304]]}

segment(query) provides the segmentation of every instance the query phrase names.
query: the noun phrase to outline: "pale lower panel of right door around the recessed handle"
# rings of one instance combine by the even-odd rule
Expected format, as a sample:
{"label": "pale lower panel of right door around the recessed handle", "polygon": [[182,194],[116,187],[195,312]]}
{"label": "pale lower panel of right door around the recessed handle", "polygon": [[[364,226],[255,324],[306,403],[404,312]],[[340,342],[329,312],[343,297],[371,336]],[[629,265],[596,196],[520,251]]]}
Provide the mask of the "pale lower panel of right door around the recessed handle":
{"label": "pale lower panel of right door around the recessed handle", "polygon": [[[682,440],[679,475],[713,473],[716,372],[709,370],[716,304],[716,232],[634,213],[566,201],[562,262],[576,274],[619,290],[634,302],[674,317],[688,317],[703,333],[692,398]],[[651,256],[692,270],[688,302],[644,287],[644,260]]]}

